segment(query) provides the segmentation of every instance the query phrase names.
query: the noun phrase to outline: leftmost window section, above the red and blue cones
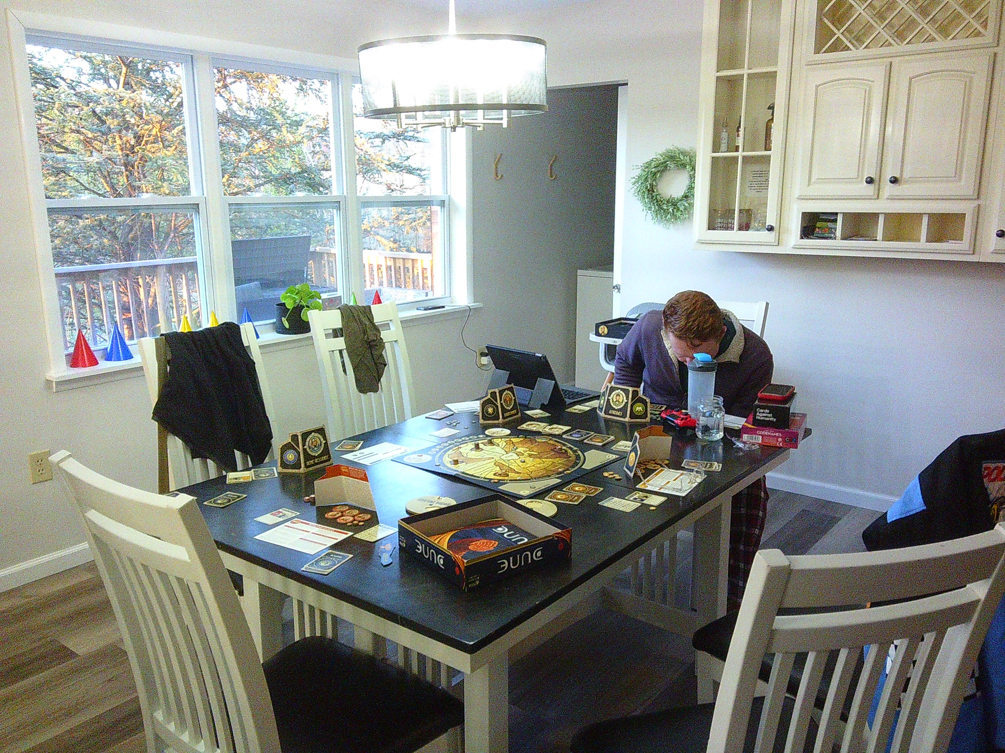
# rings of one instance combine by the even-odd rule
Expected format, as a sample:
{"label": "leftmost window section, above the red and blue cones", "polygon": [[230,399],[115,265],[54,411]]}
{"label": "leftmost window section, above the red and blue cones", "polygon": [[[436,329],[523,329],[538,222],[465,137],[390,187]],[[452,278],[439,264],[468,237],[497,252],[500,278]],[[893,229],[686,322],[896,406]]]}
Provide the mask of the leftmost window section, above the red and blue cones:
{"label": "leftmost window section, above the red and blue cones", "polygon": [[184,59],[27,45],[62,339],[202,322]]}

